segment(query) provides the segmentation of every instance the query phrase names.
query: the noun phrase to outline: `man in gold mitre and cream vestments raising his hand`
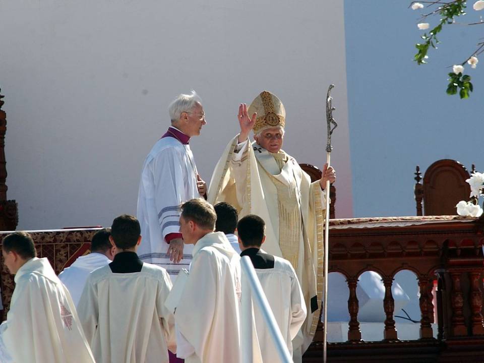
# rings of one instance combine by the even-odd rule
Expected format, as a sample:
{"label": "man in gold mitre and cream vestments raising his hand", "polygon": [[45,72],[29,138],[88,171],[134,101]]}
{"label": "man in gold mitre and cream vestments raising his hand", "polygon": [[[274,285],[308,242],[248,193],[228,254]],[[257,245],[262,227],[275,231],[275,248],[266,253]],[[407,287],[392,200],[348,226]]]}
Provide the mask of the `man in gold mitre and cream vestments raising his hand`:
{"label": "man in gold mitre and cream vestments raising his hand", "polygon": [[[321,180],[311,183],[296,160],[281,149],[285,110],[274,94],[263,91],[249,110],[240,104],[238,120],[240,133],[229,142],[215,167],[208,201],[232,204],[239,217],[261,216],[267,226],[264,250],[293,266],[308,310],[301,332],[293,342],[293,356],[301,356],[313,340],[320,315],[323,188],[327,180],[335,180],[334,169],[325,165]],[[251,130],[254,130],[253,143],[249,141]]]}

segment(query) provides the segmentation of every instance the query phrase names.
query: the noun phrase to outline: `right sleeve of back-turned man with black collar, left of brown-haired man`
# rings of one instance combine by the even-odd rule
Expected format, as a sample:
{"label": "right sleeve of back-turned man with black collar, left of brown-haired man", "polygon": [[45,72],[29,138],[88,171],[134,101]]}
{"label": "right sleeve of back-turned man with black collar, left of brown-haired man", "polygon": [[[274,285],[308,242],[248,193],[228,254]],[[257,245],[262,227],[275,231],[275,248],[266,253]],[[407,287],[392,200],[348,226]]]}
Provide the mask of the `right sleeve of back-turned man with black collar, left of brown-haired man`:
{"label": "right sleeve of back-turned man with black collar, left of brown-haired man", "polygon": [[158,294],[156,296],[156,306],[160,318],[161,328],[166,340],[166,346],[172,353],[176,353],[176,339],[175,339],[175,317],[165,307],[165,300],[171,290],[171,279],[165,271],[163,272],[163,279],[158,283]]}

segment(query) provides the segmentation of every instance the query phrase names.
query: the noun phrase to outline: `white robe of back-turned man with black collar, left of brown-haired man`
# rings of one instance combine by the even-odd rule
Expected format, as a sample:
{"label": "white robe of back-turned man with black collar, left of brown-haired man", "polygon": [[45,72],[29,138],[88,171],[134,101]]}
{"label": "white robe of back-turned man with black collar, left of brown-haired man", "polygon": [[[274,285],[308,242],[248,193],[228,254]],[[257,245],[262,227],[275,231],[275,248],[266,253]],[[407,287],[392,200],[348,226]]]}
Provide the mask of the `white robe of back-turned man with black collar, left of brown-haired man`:
{"label": "white robe of back-turned man with black collar, left of brown-haired man", "polygon": [[173,314],[164,302],[166,271],[144,263],[140,272],[101,267],[86,281],[79,317],[97,363],[168,363],[176,351]]}

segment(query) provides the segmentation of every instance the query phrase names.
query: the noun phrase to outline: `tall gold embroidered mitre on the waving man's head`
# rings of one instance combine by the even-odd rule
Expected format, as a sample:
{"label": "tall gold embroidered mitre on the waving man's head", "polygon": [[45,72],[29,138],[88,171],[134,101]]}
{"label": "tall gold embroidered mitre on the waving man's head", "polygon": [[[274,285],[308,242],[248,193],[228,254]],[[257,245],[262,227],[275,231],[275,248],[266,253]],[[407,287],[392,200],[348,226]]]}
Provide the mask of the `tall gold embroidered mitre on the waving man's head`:
{"label": "tall gold embroidered mitre on the waving man's head", "polygon": [[247,111],[250,115],[257,112],[254,134],[273,127],[284,129],[286,120],[284,105],[276,95],[268,91],[263,91],[257,96]]}

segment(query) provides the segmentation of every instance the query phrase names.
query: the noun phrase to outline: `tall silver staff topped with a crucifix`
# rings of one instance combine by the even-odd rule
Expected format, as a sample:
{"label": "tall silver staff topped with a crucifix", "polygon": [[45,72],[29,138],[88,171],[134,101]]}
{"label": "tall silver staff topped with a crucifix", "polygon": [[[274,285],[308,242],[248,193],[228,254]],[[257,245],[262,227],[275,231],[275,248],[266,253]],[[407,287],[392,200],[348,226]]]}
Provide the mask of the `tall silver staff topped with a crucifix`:
{"label": "tall silver staff topped with a crucifix", "polygon": [[[326,165],[330,168],[331,165],[331,151],[333,151],[333,145],[331,145],[331,135],[333,135],[334,129],[338,127],[338,124],[334,120],[333,111],[336,109],[332,105],[333,97],[330,96],[331,90],[334,85],[329,85],[328,94],[326,96],[326,122],[328,124],[328,142],[326,144]],[[326,210],[329,211],[329,185],[330,180],[326,180]],[[327,348],[327,336],[328,336],[328,262],[329,262],[329,213],[325,215],[324,221],[324,298],[323,298],[323,315],[324,315],[324,333],[323,333],[323,362],[326,363],[326,348]]]}

